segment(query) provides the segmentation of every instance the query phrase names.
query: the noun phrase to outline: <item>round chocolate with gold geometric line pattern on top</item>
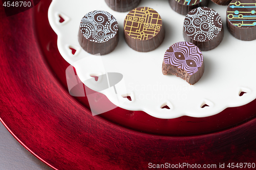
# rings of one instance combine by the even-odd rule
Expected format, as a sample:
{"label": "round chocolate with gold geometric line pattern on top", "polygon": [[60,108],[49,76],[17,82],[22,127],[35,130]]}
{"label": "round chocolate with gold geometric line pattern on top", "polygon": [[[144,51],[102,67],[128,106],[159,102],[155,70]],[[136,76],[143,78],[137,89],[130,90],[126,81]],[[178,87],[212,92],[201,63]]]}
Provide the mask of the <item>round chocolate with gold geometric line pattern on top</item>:
{"label": "round chocolate with gold geometric line pattern on top", "polygon": [[152,8],[135,8],[126,15],[123,23],[126,43],[138,52],[155,50],[164,40],[160,15]]}

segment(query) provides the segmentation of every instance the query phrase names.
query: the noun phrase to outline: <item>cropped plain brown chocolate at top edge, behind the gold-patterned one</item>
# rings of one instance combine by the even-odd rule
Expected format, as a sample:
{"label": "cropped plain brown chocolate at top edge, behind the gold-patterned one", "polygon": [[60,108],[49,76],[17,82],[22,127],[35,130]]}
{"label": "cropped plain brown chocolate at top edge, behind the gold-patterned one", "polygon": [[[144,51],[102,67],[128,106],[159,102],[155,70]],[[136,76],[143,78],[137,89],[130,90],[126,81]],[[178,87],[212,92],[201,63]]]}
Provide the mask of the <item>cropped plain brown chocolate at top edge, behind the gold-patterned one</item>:
{"label": "cropped plain brown chocolate at top edge, behind the gold-patterned one", "polygon": [[141,0],[105,0],[106,4],[117,12],[127,12],[136,8]]}

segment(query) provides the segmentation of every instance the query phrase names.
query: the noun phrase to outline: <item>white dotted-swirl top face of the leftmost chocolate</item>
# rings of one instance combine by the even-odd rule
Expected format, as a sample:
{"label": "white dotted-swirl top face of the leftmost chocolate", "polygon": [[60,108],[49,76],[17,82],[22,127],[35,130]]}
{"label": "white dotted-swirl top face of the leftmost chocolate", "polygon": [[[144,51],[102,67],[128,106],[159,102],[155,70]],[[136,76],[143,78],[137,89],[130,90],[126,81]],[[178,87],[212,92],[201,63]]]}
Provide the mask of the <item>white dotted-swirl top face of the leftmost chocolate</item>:
{"label": "white dotted-swirl top face of the leftmost chocolate", "polygon": [[93,42],[106,42],[118,31],[116,18],[105,11],[92,11],[80,22],[80,31],[85,38]]}

